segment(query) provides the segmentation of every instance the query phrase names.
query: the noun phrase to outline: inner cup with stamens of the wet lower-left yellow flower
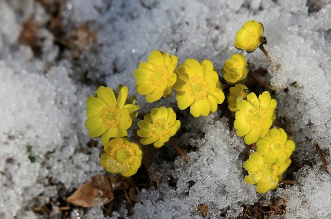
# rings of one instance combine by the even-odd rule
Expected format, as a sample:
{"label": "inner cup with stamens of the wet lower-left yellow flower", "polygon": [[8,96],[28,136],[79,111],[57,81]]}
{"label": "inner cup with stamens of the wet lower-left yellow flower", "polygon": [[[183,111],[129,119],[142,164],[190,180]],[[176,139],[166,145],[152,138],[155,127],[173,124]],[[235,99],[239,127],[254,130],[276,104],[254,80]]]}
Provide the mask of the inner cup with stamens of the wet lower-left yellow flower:
{"label": "inner cup with stamens of the wet lower-left yellow flower", "polygon": [[113,147],[107,156],[107,169],[121,172],[130,167],[134,161],[136,151],[129,144],[118,144]]}

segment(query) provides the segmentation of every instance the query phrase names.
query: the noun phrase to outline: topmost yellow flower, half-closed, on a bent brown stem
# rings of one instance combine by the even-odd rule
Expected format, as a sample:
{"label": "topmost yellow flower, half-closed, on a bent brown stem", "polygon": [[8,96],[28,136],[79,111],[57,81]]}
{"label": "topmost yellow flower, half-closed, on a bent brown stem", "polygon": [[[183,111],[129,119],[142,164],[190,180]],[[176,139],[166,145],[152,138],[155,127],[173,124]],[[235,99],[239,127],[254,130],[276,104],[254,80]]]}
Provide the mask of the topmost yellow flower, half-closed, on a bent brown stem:
{"label": "topmost yellow flower, half-closed, on a bent brown stem", "polygon": [[237,32],[235,47],[253,53],[263,42],[263,25],[257,20],[247,21]]}

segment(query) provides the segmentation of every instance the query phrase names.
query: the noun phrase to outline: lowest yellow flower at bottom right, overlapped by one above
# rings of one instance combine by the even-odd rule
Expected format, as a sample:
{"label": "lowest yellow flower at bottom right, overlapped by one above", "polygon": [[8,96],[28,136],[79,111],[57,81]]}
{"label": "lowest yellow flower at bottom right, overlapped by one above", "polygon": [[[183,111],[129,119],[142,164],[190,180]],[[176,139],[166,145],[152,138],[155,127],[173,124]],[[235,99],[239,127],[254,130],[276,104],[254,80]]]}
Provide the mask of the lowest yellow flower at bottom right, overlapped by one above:
{"label": "lowest yellow flower at bottom right, overlapped by one above", "polygon": [[257,185],[258,193],[266,193],[278,186],[282,180],[283,173],[291,164],[291,159],[287,159],[284,164],[267,164],[265,159],[257,152],[249,155],[249,159],[243,163],[243,167],[248,171],[245,182]]}

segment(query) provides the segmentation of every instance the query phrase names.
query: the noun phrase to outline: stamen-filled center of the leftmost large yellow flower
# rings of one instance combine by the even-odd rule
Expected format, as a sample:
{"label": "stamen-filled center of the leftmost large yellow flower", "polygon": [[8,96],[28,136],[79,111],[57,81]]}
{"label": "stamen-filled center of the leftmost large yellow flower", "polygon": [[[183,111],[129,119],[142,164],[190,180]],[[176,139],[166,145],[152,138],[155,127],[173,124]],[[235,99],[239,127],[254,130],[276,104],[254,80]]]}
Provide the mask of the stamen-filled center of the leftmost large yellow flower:
{"label": "stamen-filled center of the leftmost large yellow flower", "polygon": [[106,128],[116,128],[120,124],[120,109],[112,104],[100,110],[101,124]]}

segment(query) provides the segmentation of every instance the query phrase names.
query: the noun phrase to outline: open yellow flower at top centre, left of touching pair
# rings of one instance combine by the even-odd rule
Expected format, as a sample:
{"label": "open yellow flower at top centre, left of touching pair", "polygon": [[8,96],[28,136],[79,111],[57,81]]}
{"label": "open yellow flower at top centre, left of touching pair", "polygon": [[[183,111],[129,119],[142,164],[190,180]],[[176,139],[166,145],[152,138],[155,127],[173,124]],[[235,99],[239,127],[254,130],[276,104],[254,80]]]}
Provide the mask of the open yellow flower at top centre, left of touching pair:
{"label": "open yellow flower at top centre, left of touching pair", "polygon": [[148,62],[142,62],[133,76],[137,79],[137,92],[146,95],[146,101],[152,103],[162,96],[171,95],[171,87],[176,82],[174,70],[177,66],[177,56],[154,50],[148,56]]}

